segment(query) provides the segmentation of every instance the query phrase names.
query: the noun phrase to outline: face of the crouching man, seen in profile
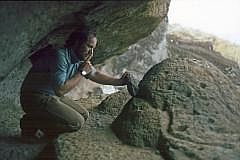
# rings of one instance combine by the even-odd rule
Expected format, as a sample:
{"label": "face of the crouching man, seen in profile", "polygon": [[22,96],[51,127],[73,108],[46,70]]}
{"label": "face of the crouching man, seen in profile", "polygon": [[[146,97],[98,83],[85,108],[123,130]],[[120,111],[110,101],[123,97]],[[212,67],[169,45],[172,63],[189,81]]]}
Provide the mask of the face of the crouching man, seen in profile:
{"label": "face of the crouching man, seen in profile", "polygon": [[93,49],[96,48],[97,38],[90,36],[86,42],[79,44],[75,48],[77,57],[80,60],[86,61],[89,57],[92,57]]}

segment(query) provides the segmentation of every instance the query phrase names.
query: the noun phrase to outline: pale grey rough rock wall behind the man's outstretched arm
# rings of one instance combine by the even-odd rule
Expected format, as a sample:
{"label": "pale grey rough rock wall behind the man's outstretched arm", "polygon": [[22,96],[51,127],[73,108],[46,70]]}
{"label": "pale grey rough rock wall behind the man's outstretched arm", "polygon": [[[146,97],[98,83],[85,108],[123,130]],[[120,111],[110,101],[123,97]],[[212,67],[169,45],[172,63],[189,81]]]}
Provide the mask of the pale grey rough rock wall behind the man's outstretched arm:
{"label": "pale grey rough rock wall behind the man's outstretched arm", "polygon": [[122,55],[106,60],[104,65],[100,67],[101,70],[113,75],[119,75],[127,70],[133,73],[137,79],[142,79],[153,65],[168,57],[166,48],[167,25],[167,19],[163,19],[149,36],[129,46]]}

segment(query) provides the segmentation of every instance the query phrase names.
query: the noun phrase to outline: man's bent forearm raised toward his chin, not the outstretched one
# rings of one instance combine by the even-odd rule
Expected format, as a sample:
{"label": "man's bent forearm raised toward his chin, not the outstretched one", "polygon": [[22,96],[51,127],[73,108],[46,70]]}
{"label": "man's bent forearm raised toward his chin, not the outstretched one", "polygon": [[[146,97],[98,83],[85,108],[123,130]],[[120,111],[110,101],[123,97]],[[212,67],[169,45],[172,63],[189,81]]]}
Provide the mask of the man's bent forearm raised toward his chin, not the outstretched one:
{"label": "man's bent forearm raised toward his chin, not the outstretched one", "polygon": [[71,79],[66,80],[64,85],[56,88],[55,93],[57,96],[63,96],[64,94],[71,91],[80,81],[81,74],[76,73]]}

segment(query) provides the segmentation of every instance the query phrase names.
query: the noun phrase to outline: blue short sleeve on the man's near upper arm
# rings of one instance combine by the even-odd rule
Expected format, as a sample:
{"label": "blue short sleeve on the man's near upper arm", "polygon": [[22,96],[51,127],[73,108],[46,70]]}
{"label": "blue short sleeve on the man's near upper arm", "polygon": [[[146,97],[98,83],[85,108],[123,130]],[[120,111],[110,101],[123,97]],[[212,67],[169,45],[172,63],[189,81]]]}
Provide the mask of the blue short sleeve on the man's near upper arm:
{"label": "blue short sleeve on the man's near upper arm", "polygon": [[54,88],[62,86],[67,78],[68,61],[64,50],[57,50],[52,64],[52,85]]}

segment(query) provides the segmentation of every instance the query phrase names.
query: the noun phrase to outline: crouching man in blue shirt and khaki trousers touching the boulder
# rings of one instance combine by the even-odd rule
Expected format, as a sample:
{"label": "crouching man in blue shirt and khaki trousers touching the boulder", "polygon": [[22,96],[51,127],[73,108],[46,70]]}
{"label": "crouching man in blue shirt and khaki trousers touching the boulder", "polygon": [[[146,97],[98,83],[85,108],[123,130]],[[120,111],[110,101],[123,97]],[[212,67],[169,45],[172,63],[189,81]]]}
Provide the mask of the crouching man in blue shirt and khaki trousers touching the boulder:
{"label": "crouching man in blue shirt and khaki trousers touching the boulder", "polygon": [[127,84],[128,73],[114,78],[92,66],[90,59],[96,45],[95,32],[85,27],[70,34],[62,48],[46,47],[30,57],[32,67],[20,95],[25,112],[20,120],[23,138],[55,137],[83,126],[89,117],[88,111],[64,97],[82,77],[105,85]]}

